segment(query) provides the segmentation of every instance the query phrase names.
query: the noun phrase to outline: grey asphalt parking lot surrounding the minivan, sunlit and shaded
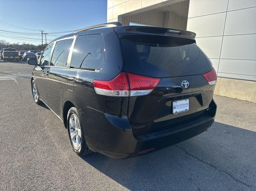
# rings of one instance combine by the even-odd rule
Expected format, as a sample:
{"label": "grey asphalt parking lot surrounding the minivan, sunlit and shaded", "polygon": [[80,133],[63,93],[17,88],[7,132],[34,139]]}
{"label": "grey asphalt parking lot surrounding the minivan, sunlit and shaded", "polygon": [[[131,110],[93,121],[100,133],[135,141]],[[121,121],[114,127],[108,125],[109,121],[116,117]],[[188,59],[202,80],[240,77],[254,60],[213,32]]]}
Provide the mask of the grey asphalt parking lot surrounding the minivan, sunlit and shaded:
{"label": "grey asphalt parking lot surrounding the minivan, sunlit and shaded", "polygon": [[256,190],[256,104],[214,96],[216,122],[199,136],[138,158],[80,158],[34,103],[32,69],[0,61],[0,190]]}

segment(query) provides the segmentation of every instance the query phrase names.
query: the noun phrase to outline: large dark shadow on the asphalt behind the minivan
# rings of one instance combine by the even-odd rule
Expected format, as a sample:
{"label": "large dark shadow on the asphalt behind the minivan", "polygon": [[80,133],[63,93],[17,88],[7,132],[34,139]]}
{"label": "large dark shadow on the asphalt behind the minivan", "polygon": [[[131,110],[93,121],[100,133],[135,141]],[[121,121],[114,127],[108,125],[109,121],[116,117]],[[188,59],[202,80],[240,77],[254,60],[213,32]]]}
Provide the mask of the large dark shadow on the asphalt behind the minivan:
{"label": "large dark shadow on the asphalt behind the minivan", "polygon": [[82,159],[130,190],[248,190],[256,186],[255,140],[256,132],[214,122],[190,140],[137,158]]}

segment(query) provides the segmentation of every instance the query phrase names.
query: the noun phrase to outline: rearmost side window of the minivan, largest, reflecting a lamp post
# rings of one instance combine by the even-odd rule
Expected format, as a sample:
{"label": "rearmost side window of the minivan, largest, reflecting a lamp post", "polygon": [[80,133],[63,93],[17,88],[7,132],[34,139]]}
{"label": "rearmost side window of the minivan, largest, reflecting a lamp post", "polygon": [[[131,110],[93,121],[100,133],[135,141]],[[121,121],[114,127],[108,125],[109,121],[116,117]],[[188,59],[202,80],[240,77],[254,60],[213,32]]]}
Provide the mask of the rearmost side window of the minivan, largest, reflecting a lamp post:
{"label": "rearmost side window of the minivan, largest, reflecting a lamp post", "polygon": [[103,37],[100,34],[81,35],[71,57],[71,68],[101,69],[105,60]]}

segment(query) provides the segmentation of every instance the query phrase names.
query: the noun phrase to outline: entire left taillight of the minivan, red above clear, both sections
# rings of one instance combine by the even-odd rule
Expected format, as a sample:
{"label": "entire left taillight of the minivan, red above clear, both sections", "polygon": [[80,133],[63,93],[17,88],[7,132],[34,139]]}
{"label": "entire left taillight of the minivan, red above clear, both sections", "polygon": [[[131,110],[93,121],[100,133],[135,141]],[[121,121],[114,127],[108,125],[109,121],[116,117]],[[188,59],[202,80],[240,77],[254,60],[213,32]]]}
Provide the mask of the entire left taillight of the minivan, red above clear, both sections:
{"label": "entire left taillight of the minivan, red above clear, both sections", "polygon": [[160,79],[121,72],[110,81],[94,80],[97,94],[107,96],[148,95],[158,85]]}

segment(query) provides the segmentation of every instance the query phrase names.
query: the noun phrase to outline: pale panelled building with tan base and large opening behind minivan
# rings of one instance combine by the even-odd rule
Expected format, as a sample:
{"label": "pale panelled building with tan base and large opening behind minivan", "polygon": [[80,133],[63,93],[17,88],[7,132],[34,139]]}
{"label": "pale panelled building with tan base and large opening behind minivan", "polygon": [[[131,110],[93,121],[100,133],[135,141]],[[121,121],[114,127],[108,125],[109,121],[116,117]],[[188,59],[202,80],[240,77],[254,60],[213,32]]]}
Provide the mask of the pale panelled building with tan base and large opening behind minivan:
{"label": "pale panelled building with tan base and large opening behind minivan", "polygon": [[108,0],[107,21],[195,32],[216,95],[256,102],[256,0]]}

